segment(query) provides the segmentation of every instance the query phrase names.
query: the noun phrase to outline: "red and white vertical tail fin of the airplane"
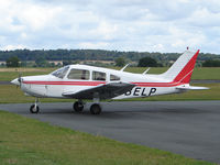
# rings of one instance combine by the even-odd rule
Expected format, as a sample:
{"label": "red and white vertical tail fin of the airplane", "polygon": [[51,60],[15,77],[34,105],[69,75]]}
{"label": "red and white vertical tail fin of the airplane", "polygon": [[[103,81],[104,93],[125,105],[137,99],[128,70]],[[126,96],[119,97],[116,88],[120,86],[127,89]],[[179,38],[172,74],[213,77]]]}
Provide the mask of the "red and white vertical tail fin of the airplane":
{"label": "red and white vertical tail fin of the airplane", "polygon": [[197,52],[187,50],[172,67],[161,76],[172,81],[189,84],[198,54],[199,50]]}

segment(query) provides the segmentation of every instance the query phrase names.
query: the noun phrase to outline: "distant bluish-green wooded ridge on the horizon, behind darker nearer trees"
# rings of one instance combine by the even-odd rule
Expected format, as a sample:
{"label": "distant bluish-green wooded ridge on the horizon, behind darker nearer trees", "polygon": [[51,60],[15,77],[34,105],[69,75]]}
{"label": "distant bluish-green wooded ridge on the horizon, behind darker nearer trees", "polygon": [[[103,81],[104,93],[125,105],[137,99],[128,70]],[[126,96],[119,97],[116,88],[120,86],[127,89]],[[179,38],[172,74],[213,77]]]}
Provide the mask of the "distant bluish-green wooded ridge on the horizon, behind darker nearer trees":
{"label": "distant bluish-green wooded ridge on the horizon, behind darker nearer trees", "polygon": [[[153,57],[156,61],[176,61],[179,53],[158,53],[158,52],[119,52],[105,50],[15,50],[0,51],[0,61],[7,61],[11,56],[16,56],[21,61],[35,61],[42,57],[46,61],[114,61],[118,57],[124,57],[138,62],[142,57]],[[210,53],[200,53],[198,61],[220,59],[220,56]]]}

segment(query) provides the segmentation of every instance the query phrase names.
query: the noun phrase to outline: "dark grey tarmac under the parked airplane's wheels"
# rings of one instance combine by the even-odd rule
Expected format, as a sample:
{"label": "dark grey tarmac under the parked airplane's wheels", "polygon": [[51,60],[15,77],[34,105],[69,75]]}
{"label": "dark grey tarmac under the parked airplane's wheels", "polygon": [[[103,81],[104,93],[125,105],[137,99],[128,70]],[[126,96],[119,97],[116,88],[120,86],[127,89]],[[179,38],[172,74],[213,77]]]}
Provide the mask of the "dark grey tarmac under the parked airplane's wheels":
{"label": "dark grey tarmac under the parked airplane's wheels", "polygon": [[170,151],[196,160],[220,163],[220,101],[102,102],[100,116],[73,112],[73,103],[0,105],[1,110],[51,124],[103,135],[122,142]]}

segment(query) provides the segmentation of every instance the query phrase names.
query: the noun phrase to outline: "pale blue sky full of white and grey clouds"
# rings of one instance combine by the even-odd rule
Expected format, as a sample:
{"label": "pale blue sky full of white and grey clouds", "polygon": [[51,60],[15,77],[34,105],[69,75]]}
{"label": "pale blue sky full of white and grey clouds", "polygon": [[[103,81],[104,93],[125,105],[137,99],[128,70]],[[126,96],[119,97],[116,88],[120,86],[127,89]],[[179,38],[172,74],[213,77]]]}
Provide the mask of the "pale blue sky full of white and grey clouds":
{"label": "pale blue sky full of white and grey clouds", "polygon": [[0,0],[0,50],[220,54],[220,0]]}

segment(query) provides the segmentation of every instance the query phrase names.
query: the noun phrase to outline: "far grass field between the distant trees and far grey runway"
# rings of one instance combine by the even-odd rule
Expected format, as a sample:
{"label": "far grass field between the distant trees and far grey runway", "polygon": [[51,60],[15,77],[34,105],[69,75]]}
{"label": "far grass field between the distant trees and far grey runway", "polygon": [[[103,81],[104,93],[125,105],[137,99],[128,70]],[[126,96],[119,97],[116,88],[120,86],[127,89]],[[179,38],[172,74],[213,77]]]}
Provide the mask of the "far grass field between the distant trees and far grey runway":
{"label": "far grass field between the distant trees and far grey runway", "polygon": [[[113,67],[114,69],[120,69],[119,67]],[[34,76],[48,74],[56,68],[0,68],[0,80],[10,81],[22,73],[22,76]],[[143,73],[145,67],[128,67],[125,72],[131,73]],[[166,72],[167,67],[153,67],[150,69],[148,74],[162,74]],[[195,68],[193,74],[193,79],[220,79],[220,67],[198,67]]]}

